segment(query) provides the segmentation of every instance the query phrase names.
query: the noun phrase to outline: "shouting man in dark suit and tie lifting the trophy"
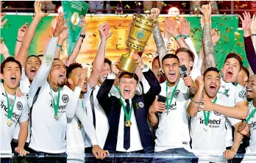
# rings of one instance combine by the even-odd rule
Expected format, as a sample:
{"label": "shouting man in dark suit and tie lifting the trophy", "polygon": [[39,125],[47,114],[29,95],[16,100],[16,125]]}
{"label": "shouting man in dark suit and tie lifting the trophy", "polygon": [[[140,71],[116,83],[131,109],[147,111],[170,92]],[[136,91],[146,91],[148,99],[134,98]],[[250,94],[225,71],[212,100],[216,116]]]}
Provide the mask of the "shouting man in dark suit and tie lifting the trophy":
{"label": "shouting man in dark suit and tie lifting the trophy", "polygon": [[147,114],[155,96],[160,93],[160,84],[152,70],[143,64],[138,54],[133,54],[132,57],[149,82],[149,91],[146,94],[135,95],[138,76],[135,73],[124,72],[119,76],[119,87],[117,87],[120,98],[109,96],[108,93],[115,77],[120,71],[118,62],[116,62],[112,66],[112,73],[107,76],[97,95],[110,125],[104,145],[104,149],[110,153],[150,153],[154,151],[154,139],[147,123]]}

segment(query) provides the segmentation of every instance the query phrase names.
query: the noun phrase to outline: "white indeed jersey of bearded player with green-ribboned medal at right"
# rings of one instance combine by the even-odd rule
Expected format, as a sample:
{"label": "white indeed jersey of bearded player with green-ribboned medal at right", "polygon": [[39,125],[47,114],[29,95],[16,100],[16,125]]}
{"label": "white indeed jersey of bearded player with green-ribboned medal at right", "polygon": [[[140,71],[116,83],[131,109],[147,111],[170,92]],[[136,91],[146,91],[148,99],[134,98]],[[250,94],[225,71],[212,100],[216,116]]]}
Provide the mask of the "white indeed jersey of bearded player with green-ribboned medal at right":
{"label": "white indeed jersey of bearded player with green-ribboned medal at right", "polygon": [[[185,109],[191,100],[189,99],[185,104]],[[234,106],[234,104],[222,93],[217,94],[216,104],[222,106]],[[197,112],[196,117],[191,117],[191,137],[193,153],[196,156],[210,155],[222,156],[226,151],[226,121],[229,120],[232,126],[241,120],[221,115],[218,112],[210,112],[208,123],[208,130],[205,131],[205,117],[204,112]]]}

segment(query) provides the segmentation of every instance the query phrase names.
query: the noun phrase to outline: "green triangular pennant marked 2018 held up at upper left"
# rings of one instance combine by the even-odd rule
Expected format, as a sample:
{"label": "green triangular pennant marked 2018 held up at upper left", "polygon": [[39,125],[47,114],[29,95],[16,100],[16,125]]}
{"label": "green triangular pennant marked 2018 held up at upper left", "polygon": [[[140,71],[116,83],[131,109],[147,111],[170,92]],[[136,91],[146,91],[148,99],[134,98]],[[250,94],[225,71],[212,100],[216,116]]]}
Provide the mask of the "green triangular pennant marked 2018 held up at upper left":
{"label": "green triangular pennant marked 2018 held up at upper left", "polygon": [[67,47],[68,57],[70,57],[74,47],[77,44],[82,28],[79,24],[82,21],[82,15],[88,12],[89,4],[85,1],[61,1],[65,20],[68,20],[66,26],[69,26]]}

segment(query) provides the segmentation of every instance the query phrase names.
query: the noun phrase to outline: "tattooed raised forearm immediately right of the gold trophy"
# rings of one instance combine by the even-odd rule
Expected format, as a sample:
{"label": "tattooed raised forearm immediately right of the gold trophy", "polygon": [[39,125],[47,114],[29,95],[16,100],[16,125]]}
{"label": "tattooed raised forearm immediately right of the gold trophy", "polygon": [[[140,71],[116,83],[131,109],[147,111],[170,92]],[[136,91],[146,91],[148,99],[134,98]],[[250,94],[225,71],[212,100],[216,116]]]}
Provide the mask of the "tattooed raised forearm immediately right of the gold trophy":
{"label": "tattooed raised forearm immediately right of the gold trophy", "polygon": [[153,34],[154,34],[154,42],[157,45],[157,53],[159,54],[160,65],[161,65],[161,68],[162,68],[162,59],[167,54],[167,51],[166,51],[166,46],[165,46],[165,43],[163,41],[163,37],[161,35],[158,23],[157,23],[156,26],[154,26]]}

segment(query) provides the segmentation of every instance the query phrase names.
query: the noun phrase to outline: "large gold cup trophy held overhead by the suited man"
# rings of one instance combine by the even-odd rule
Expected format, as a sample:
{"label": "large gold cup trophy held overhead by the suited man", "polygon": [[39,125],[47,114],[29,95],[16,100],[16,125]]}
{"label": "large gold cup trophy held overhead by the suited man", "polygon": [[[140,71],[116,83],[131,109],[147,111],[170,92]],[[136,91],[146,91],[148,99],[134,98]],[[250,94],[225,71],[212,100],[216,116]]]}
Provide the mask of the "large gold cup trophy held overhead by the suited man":
{"label": "large gold cup trophy held overhead by the suited man", "polygon": [[136,68],[136,62],[132,59],[132,54],[136,52],[142,55],[146,43],[148,42],[154,26],[157,25],[157,21],[152,18],[147,18],[144,15],[133,14],[132,24],[129,29],[129,35],[127,38],[127,48],[129,52],[123,54],[120,59],[119,68],[121,70],[133,73]]}

